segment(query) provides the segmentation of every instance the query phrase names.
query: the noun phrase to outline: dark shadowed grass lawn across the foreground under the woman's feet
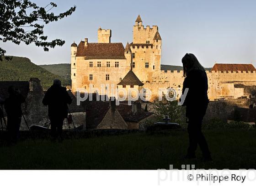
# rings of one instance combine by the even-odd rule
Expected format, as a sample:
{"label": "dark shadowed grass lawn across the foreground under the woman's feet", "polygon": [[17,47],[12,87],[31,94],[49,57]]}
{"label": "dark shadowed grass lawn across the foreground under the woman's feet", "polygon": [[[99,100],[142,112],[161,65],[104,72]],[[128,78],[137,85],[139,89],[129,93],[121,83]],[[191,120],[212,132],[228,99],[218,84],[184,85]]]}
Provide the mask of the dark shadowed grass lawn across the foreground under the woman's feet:
{"label": "dark shadowed grass lawn across the foreground under the woman's feet", "polygon": [[184,131],[132,133],[69,139],[24,140],[0,147],[0,169],[169,169],[195,164],[204,169],[256,169],[256,130],[205,130],[213,162],[184,160],[188,137]]}

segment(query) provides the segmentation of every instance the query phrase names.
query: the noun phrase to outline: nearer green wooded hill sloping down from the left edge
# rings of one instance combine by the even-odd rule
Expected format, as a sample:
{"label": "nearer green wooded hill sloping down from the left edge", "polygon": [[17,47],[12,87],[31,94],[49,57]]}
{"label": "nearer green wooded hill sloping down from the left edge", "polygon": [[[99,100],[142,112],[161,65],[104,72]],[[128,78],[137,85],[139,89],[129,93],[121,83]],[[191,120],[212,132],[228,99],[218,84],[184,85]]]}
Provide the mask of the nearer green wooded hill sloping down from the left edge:
{"label": "nearer green wooded hill sloping down from the left edge", "polygon": [[44,89],[49,88],[55,78],[60,79],[63,86],[70,85],[65,78],[48,72],[26,57],[12,57],[10,61],[3,58],[0,61],[0,81],[28,81],[30,78],[39,78]]}

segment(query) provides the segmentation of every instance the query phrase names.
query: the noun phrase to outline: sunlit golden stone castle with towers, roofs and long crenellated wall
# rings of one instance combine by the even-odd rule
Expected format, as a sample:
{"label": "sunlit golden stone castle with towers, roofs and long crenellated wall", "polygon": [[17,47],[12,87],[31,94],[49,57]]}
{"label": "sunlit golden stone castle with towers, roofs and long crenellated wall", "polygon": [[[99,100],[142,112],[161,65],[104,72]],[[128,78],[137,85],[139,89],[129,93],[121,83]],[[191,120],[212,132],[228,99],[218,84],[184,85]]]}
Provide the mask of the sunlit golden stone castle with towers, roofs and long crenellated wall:
{"label": "sunlit golden stone castle with towers, roofs and long crenellated wall", "polygon": [[[78,88],[98,88],[100,94],[107,94],[107,85],[123,88],[149,88],[158,96],[159,88],[181,89],[183,71],[161,70],[162,38],[158,26],[144,27],[140,16],[133,26],[133,42],[126,47],[111,43],[111,30],[98,29],[98,42],[90,43],[88,38],[79,45],[71,45],[72,92]],[[252,64],[215,64],[208,76],[208,98],[249,98],[244,88],[237,85],[256,85],[256,69]],[[102,89],[101,84],[106,88]],[[152,98],[151,98],[152,99]]]}

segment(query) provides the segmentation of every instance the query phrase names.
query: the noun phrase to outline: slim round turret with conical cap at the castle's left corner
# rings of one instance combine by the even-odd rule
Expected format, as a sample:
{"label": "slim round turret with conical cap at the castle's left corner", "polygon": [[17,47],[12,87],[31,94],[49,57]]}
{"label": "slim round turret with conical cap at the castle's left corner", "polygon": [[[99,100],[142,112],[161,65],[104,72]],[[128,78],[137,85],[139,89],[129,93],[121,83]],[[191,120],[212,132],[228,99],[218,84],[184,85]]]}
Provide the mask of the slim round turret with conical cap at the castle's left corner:
{"label": "slim round turret with conical cap at the castle's left corner", "polygon": [[71,80],[72,80],[72,89],[76,89],[76,62],[75,62],[75,57],[77,54],[77,44],[72,43],[71,44],[71,60],[70,60],[70,65],[71,65]]}

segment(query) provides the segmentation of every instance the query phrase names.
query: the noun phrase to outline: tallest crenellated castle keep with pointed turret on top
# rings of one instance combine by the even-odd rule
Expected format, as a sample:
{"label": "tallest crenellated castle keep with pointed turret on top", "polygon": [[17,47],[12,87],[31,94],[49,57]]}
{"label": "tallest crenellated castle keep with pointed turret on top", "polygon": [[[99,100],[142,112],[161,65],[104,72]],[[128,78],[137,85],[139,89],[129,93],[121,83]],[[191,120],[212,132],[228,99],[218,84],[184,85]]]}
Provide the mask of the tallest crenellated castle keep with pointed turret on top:
{"label": "tallest crenellated castle keep with pointed turret on top", "polygon": [[132,50],[133,72],[142,82],[152,81],[153,73],[160,71],[162,39],[158,26],[144,28],[140,16],[133,26]]}

